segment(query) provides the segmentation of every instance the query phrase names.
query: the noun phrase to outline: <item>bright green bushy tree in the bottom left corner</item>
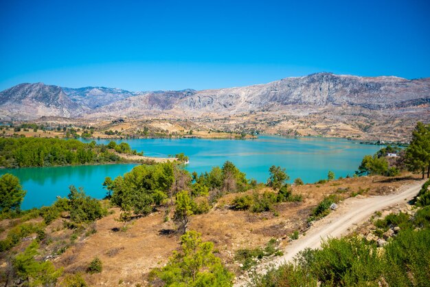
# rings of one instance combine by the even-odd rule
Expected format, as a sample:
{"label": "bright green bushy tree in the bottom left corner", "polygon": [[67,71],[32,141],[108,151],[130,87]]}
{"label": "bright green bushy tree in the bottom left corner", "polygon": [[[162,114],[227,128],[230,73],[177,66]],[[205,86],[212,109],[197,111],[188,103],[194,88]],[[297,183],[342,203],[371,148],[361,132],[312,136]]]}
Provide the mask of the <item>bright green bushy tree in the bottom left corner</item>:
{"label": "bright green bushy tree in the bottom left corner", "polygon": [[16,274],[27,282],[25,286],[55,286],[63,270],[56,269],[50,261],[36,261],[34,257],[38,255],[38,247],[34,241],[23,253],[16,255],[13,260]]}

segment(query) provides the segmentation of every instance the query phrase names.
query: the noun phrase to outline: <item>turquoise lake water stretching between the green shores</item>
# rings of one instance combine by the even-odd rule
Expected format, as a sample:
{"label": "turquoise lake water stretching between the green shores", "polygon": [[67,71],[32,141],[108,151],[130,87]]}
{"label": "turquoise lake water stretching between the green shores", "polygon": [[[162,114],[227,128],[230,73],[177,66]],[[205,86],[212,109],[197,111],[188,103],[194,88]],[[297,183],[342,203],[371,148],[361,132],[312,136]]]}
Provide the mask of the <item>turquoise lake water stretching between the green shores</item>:
{"label": "turquoise lake water stretching between the green shores", "polygon": [[[210,171],[226,160],[234,162],[247,178],[266,182],[269,167],[284,167],[292,182],[302,178],[304,182],[315,182],[326,178],[329,170],[336,177],[352,176],[363,156],[373,154],[381,147],[360,145],[357,142],[337,138],[282,138],[260,136],[252,140],[203,140],[182,139],[137,139],[122,140],[146,156],[167,157],[185,153],[190,157],[189,171]],[[109,140],[96,140],[108,143]],[[117,140],[117,142],[121,142]],[[88,195],[103,198],[106,191],[102,182],[106,176],[115,178],[131,171],[136,164],[104,164],[79,167],[37,167],[24,169],[1,169],[0,174],[13,173],[21,180],[27,191],[22,209],[52,204],[56,196],[65,197],[69,185],[83,187]]]}

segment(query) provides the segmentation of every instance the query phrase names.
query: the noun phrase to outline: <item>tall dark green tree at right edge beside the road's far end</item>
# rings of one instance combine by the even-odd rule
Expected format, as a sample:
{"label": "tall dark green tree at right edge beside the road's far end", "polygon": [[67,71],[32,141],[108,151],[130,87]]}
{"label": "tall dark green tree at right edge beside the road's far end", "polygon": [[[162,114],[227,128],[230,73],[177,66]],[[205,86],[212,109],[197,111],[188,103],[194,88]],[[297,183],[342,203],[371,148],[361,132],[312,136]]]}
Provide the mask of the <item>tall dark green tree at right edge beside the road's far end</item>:
{"label": "tall dark green tree at right edge beside the road's far end", "polygon": [[406,149],[405,162],[409,171],[421,172],[424,179],[427,169],[427,178],[430,177],[430,125],[417,123]]}

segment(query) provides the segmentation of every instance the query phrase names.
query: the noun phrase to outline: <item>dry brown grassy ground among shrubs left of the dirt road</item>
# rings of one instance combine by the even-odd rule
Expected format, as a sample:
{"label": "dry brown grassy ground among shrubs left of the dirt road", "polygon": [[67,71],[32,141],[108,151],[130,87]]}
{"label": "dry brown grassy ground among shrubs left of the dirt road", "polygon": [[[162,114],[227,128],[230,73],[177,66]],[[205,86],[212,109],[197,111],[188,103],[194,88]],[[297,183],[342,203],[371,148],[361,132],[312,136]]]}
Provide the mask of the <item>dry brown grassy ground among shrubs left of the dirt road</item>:
{"label": "dry brown grassy ground among shrubs left of the dirt road", "polygon": [[[188,228],[202,233],[203,240],[214,242],[218,256],[239,274],[240,268],[234,262],[234,254],[239,248],[264,246],[271,238],[277,239],[281,247],[286,246],[288,236],[293,231],[306,230],[306,219],[324,196],[338,194],[341,198],[347,198],[357,193],[361,193],[357,196],[381,195],[396,192],[399,187],[415,180],[414,176],[408,174],[396,178],[374,176],[305,184],[293,187],[293,193],[303,195],[303,202],[276,204],[274,211],[266,213],[231,210],[231,201],[237,195],[245,194],[231,193],[220,198],[209,213],[193,215]],[[267,190],[267,187],[260,187],[257,192]],[[253,192],[247,191],[249,194]],[[163,266],[172,251],[179,248],[179,235],[172,233],[175,226],[171,221],[164,221],[166,210],[160,208],[156,213],[133,220],[124,231],[122,222],[117,221],[120,211],[111,211],[113,213],[79,233],[65,253],[53,259],[53,262],[56,267],[65,268],[65,273],[84,273],[89,262],[99,257],[103,262],[102,273],[84,273],[90,286],[145,284],[149,270]],[[40,218],[35,221],[38,220]],[[69,238],[75,232],[64,228],[63,220],[67,221],[67,216],[52,222],[46,229],[53,242],[45,246],[47,253],[56,248],[56,244],[70,242]],[[3,220],[0,226],[6,229],[12,221]],[[95,233],[88,232],[92,229]],[[0,237],[4,237],[5,233],[1,232]],[[21,242],[13,251],[23,251],[28,242],[30,240]],[[2,261],[0,266],[4,268],[4,258]]]}

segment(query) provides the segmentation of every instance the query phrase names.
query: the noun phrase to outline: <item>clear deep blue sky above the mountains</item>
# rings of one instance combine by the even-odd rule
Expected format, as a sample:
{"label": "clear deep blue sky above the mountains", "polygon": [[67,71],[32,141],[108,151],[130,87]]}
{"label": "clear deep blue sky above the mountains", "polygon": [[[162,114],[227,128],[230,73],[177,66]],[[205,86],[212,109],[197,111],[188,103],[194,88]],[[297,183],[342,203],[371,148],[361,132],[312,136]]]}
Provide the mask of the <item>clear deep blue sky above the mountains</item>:
{"label": "clear deep blue sky above the mountains", "polygon": [[0,0],[0,90],[430,76],[430,1]]}

